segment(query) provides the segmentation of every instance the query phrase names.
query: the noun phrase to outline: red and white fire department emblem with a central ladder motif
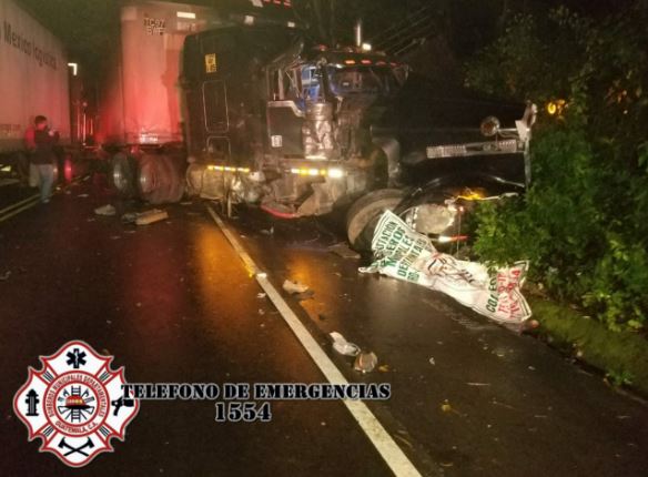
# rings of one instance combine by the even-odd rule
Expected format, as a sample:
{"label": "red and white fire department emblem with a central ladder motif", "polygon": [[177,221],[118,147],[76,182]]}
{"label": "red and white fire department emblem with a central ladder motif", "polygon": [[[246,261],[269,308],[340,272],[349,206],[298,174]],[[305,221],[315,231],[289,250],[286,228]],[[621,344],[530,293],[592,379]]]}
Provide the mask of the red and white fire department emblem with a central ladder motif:
{"label": "red and white fire department emblem with a central ladder motif", "polygon": [[40,371],[29,367],[13,410],[28,427],[29,440],[42,439],[41,453],[82,467],[101,453],[112,453],[113,437],[124,440],[140,403],[124,398],[124,368],[112,371],[112,359],[74,341],[51,356],[40,356]]}

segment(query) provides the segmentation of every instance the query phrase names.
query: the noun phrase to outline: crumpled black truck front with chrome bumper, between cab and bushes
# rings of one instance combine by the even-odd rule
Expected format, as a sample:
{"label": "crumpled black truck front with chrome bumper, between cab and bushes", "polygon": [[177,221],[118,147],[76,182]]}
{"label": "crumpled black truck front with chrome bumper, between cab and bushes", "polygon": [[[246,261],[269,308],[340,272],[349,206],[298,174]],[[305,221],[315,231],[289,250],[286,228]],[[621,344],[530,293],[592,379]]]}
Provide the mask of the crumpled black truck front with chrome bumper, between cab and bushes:
{"label": "crumpled black truck front with chrome bumper, between cab and bushes", "polygon": [[528,186],[536,114],[530,102],[503,103],[463,90],[446,95],[409,74],[369,126],[387,176],[351,206],[351,244],[368,248],[376,219],[387,209],[436,244],[466,241],[462,220],[476,201]]}

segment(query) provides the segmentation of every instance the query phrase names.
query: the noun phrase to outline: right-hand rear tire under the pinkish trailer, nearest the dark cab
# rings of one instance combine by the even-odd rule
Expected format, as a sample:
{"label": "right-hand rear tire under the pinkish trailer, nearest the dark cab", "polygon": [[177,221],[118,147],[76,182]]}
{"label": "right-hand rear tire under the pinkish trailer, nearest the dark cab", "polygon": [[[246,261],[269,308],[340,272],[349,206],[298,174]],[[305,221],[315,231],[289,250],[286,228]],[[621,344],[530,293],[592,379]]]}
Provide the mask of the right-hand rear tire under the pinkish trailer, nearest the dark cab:
{"label": "right-hand rear tire under the pinkish trailer, nearest the dark cab", "polygon": [[151,204],[180,202],[184,174],[178,160],[168,154],[144,154],[138,161],[138,190]]}

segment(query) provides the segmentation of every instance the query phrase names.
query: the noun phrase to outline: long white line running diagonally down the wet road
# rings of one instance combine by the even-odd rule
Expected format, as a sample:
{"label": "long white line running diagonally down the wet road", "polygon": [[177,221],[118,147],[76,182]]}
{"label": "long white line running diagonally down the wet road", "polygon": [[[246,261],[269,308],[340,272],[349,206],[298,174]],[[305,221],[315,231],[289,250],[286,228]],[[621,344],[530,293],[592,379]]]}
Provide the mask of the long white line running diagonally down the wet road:
{"label": "long white line running diagonally down the wet road", "polygon": [[[207,211],[216,225],[221,229],[232,247],[236,251],[247,271],[254,275],[259,285],[266,293],[267,297],[281,313],[288,327],[293,331],[302,346],[311,355],[320,371],[324,374],[331,384],[348,384],[348,380],[337,369],[331,358],[324,353],[322,347],[313,338],[311,333],[302,324],[300,318],[294,314],[285,300],[276,291],[274,285],[267,280],[266,273],[256,266],[252,257],[245,252],[239,240],[216,215],[212,207],[207,205]],[[387,466],[394,475],[401,476],[421,476],[414,464],[403,453],[401,447],[383,427],[379,420],[374,416],[371,409],[362,400],[343,400],[346,408],[353,415],[360,427],[364,430],[372,444],[376,447]]]}

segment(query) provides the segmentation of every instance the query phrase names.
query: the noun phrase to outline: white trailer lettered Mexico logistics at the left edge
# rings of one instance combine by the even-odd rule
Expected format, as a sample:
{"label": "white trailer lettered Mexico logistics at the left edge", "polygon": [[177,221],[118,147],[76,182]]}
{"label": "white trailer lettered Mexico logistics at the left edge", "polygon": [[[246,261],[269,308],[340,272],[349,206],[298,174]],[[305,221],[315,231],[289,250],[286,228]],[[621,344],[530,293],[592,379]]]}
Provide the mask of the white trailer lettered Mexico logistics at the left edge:
{"label": "white trailer lettered Mexico logistics at the left edge", "polygon": [[45,115],[69,145],[70,83],[61,41],[13,0],[0,0],[0,171],[9,181],[26,175],[24,134]]}

